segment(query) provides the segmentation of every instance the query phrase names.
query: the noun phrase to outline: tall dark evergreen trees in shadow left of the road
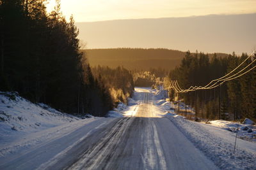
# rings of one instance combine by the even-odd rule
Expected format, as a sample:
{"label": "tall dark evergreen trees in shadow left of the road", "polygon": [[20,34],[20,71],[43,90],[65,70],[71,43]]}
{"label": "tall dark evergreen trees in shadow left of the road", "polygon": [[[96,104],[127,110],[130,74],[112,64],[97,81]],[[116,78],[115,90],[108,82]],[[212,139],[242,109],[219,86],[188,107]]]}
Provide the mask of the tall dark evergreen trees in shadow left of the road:
{"label": "tall dark evergreen trees in shadow left of the road", "polygon": [[79,31],[45,0],[0,0],[0,90],[67,113],[104,116],[113,103],[79,52]]}

